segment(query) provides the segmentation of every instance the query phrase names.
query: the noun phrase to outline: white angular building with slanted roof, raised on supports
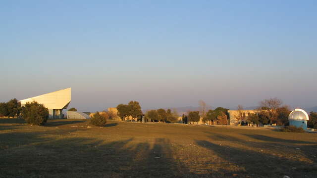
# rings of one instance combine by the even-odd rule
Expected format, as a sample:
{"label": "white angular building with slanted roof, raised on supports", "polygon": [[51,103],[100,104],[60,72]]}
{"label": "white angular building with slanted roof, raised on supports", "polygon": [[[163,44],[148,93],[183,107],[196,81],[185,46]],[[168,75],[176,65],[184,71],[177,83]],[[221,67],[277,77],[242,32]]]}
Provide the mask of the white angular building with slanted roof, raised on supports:
{"label": "white angular building with slanted roof, raised on supports", "polygon": [[53,91],[47,94],[20,100],[21,105],[36,101],[49,109],[50,119],[62,119],[63,109],[67,109],[71,100],[71,88]]}

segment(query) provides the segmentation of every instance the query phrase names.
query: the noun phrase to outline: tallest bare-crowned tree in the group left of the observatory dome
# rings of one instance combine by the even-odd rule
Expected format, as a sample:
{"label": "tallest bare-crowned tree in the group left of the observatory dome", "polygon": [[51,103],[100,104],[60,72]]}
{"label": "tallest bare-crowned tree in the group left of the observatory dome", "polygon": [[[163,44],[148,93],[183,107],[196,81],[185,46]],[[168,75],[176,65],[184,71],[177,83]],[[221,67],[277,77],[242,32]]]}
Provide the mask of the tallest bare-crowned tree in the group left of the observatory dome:
{"label": "tallest bare-crowned tree in the group left of the observatory dome", "polygon": [[280,107],[282,104],[282,101],[278,98],[269,98],[264,99],[260,102],[260,108],[266,112],[262,113],[263,115],[266,115],[266,117],[269,119],[269,122],[271,124],[277,123],[278,115],[276,113],[276,109]]}

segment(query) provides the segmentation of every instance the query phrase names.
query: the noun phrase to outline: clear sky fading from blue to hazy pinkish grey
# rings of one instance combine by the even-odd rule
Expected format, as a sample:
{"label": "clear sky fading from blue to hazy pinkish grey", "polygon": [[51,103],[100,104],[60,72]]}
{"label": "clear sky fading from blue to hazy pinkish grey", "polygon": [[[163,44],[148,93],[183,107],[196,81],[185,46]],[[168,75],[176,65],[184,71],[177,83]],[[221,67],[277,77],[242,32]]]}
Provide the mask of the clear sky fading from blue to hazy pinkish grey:
{"label": "clear sky fading from blue to hazy pinkish grey", "polygon": [[317,106],[316,0],[1,0],[0,102]]}

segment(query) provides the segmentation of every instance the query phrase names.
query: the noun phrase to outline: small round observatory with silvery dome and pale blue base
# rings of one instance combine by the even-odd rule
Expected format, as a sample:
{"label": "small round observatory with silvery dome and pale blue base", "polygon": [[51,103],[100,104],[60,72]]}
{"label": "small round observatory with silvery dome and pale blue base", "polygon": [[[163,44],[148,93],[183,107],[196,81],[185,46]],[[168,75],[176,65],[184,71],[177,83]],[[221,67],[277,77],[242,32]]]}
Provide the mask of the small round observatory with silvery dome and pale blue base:
{"label": "small round observatory with silvery dome and pale blue base", "polygon": [[301,127],[307,130],[307,121],[309,120],[308,114],[303,109],[295,109],[288,116],[290,126]]}

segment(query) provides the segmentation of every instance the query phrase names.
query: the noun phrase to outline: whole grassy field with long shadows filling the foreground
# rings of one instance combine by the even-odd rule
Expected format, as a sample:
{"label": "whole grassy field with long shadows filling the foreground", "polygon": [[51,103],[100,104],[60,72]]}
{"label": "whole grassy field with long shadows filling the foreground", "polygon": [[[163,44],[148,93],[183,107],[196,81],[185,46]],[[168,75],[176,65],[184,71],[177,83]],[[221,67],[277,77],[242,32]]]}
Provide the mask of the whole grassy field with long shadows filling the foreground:
{"label": "whole grassy field with long shadows filling the foreground", "polygon": [[316,178],[317,134],[87,120],[0,119],[0,177]]}

